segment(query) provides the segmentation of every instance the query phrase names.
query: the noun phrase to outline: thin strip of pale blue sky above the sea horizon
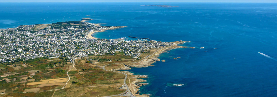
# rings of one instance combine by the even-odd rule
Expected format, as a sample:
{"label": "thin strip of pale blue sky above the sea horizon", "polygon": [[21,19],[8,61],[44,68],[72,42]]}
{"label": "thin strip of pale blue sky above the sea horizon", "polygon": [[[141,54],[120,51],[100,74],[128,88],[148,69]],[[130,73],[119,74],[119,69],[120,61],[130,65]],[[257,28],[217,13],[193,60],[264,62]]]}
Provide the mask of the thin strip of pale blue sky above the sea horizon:
{"label": "thin strip of pale blue sky above the sea horizon", "polygon": [[277,0],[0,0],[0,2],[275,2]]}

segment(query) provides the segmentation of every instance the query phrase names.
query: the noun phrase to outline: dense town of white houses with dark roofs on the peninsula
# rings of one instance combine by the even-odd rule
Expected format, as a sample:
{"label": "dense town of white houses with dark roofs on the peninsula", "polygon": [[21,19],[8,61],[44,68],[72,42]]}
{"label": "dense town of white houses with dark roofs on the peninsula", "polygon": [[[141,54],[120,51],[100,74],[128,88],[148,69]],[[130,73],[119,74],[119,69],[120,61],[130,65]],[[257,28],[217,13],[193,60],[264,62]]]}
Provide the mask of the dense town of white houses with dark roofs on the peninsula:
{"label": "dense town of white houses with dark roofs on the peninsula", "polygon": [[[68,22],[67,22],[68,23]],[[161,41],[124,39],[88,39],[90,31],[111,28],[92,23],[49,24],[37,30],[38,25],[22,25],[17,28],[0,29],[0,62],[37,57],[86,57],[122,53],[137,58],[150,48],[161,48],[171,43]]]}

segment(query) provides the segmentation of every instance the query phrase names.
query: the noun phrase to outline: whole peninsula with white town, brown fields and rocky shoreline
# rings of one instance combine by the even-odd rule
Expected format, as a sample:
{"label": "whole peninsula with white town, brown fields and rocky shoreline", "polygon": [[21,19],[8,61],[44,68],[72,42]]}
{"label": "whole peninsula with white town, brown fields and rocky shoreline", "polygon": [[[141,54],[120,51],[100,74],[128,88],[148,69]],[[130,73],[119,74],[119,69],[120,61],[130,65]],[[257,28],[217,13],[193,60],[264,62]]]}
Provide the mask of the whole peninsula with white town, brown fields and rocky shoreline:
{"label": "whole peninsula with white town, brown fields and rocky shoreline", "polygon": [[188,48],[177,45],[188,41],[91,36],[123,27],[82,20],[0,29],[0,96],[149,96],[137,94],[147,75],[118,70],[153,66],[159,54]]}

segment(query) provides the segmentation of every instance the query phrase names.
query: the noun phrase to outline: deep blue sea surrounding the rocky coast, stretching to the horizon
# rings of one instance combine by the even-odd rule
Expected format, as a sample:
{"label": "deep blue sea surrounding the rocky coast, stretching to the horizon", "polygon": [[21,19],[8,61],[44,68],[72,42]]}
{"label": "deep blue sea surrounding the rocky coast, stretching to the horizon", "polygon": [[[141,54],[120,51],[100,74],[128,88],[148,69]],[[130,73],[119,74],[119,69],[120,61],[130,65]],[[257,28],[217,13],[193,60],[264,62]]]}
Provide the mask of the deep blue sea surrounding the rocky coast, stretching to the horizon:
{"label": "deep blue sea surrounding the rocky coast, stretching to the horizon", "polygon": [[[179,7],[140,6],[161,4]],[[183,40],[191,43],[182,46],[196,47],[168,51],[160,55],[166,62],[129,70],[150,76],[141,94],[277,96],[277,3],[0,3],[0,28],[85,17],[94,19],[91,23],[128,26],[95,33],[97,38]],[[168,85],[174,83],[184,85]]]}

